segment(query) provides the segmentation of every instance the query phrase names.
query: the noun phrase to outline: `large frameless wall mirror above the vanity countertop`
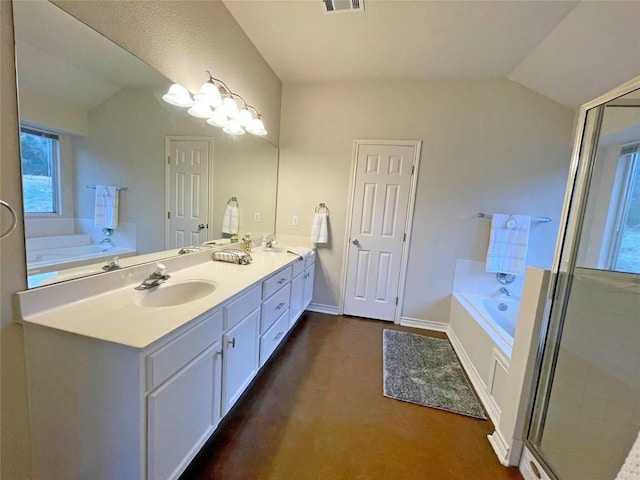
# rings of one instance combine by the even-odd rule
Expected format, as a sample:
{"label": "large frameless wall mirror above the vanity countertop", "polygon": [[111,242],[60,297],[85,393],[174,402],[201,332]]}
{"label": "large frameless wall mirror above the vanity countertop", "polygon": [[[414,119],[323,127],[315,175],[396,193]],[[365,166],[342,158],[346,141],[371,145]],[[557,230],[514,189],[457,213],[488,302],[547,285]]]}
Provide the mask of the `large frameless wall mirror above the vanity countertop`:
{"label": "large frameless wall mirror above the vanity countertop", "polygon": [[[170,80],[47,1],[14,2],[14,26],[30,288],[230,237],[229,203],[240,235],[274,231],[277,147],[165,103]],[[174,172],[181,152],[190,166]],[[119,189],[112,230],[102,186]],[[176,223],[185,208],[195,230]]]}

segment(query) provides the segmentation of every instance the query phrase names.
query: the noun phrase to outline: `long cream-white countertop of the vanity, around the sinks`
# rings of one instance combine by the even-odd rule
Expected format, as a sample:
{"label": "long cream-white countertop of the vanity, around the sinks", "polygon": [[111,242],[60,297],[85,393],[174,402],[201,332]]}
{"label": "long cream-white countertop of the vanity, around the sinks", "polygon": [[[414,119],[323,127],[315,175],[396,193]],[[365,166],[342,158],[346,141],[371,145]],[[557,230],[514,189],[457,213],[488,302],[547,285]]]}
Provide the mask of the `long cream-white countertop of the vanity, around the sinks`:
{"label": "long cream-white countertop of the vanity, around the sinks", "polygon": [[[188,303],[169,307],[138,305],[136,300],[148,294],[149,291],[135,290],[134,287],[142,278],[135,281],[130,278],[126,286],[63,303],[53,308],[33,309],[23,305],[22,322],[26,325],[54,328],[142,349],[208,310],[221,305],[242,290],[258,284],[270,274],[300,260],[299,256],[291,253],[255,250],[252,251],[251,256],[253,257],[251,264],[236,265],[214,262],[210,260],[209,254],[206,257],[202,256],[202,258],[208,258],[208,261],[175,271],[171,270],[169,262],[165,262],[167,273],[171,275],[167,285],[185,280],[207,280],[216,284],[213,293]],[[19,304],[29,302],[29,294],[32,292],[18,293]],[[41,292],[37,293],[40,297],[44,295]],[[56,291],[52,289],[47,294],[56,295]],[[46,305],[46,301],[42,299],[38,301]]]}

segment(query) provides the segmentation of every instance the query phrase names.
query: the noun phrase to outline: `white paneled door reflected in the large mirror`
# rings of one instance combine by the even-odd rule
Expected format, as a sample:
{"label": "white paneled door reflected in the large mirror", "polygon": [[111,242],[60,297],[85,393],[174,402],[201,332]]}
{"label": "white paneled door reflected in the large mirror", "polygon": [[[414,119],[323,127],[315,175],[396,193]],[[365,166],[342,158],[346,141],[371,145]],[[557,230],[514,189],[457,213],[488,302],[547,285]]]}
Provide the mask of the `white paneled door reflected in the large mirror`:
{"label": "white paneled door reflected in the large mirror", "polygon": [[211,151],[208,138],[167,138],[167,248],[208,239]]}

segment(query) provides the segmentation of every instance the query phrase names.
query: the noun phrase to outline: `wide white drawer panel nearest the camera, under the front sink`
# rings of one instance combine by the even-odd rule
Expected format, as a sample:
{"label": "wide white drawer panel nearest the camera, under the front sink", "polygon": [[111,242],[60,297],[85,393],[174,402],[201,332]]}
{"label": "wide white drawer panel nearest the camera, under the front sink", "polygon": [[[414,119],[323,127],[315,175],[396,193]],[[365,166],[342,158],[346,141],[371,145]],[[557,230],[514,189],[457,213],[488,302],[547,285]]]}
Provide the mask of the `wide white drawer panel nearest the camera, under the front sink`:
{"label": "wide white drawer panel nearest the camera, under the front sink", "polygon": [[147,390],[151,391],[185,366],[206,347],[222,338],[222,312],[206,318],[145,359]]}

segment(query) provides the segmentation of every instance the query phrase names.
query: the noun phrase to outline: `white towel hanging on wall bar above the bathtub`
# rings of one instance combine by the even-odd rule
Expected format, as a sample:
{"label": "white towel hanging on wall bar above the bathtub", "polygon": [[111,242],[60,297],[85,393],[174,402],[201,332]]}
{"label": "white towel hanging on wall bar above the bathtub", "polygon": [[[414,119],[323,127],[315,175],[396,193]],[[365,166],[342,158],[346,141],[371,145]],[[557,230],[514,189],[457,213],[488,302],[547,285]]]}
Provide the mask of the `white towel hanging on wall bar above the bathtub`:
{"label": "white towel hanging on wall bar above the bathtub", "polygon": [[485,264],[487,272],[522,275],[527,263],[531,217],[494,213]]}

